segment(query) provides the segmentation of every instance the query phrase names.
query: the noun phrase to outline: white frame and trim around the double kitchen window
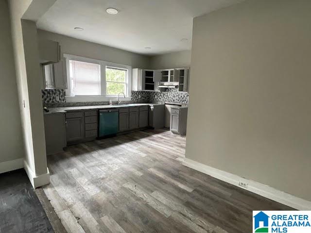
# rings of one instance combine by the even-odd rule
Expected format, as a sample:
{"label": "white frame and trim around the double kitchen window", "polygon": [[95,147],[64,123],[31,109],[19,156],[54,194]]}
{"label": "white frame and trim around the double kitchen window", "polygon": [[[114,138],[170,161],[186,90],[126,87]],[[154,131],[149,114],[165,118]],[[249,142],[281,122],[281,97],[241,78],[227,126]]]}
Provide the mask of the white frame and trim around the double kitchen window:
{"label": "white frame and trim around the double kitchen window", "polygon": [[[108,100],[118,100],[118,95],[107,95],[106,94],[106,67],[114,67],[119,69],[127,70],[127,93],[125,94],[125,100],[131,100],[132,93],[132,67],[128,65],[122,65],[113,62],[107,62],[98,59],[86,58],[82,56],[64,54],[64,58],[66,60],[66,72],[67,72],[67,83],[68,88],[66,89],[66,101],[68,102],[78,102],[78,101],[108,101]],[[74,60],[78,62],[86,62],[92,64],[98,64],[101,66],[101,77],[100,77],[100,96],[87,96],[87,95],[74,95],[71,93],[71,82],[69,75],[69,60]],[[122,98],[124,100],[124,98]]]}

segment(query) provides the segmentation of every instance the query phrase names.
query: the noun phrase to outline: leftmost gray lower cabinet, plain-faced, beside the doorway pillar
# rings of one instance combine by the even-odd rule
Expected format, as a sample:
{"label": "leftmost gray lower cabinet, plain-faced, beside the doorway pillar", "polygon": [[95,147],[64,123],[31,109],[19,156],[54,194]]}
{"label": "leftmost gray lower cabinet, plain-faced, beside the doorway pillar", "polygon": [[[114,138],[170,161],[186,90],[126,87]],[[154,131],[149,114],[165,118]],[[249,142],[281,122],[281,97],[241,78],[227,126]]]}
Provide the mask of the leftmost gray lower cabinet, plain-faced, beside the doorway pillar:
{"label": "leftmost gray lower cabinet, plain-faced, beside the doorway pillar", "polygon": [[44,129],[47,155],[63,151],[66,147],[65,114],[44,114]]}

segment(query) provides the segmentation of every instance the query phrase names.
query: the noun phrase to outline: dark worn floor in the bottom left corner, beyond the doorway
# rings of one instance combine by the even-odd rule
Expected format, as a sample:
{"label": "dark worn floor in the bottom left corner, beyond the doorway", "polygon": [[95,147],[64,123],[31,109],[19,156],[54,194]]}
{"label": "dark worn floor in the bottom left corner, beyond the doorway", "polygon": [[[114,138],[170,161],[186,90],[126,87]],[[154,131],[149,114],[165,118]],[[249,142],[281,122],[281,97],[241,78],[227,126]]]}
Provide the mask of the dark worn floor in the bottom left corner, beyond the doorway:
{"label": "dark worn floor in the bottom left corner, beyond the doorway", "polygon": [[0,174],[0,233],[53,233],[24,169]]}

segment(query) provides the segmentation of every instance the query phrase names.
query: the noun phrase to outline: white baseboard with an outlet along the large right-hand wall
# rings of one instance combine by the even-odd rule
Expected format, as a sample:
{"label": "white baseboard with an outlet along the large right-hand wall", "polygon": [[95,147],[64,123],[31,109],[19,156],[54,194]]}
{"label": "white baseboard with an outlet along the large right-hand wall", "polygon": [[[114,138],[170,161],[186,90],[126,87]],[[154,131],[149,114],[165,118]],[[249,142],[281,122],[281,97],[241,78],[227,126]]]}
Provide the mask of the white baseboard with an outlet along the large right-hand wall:
{"label": "white baseboard with an outlet along the large right-hand wall", "polygon": [[243,187],[241,187],[239,185],[239,182],[248,183],[248,187],[243,188],[243,189],[248,190],[248,191],[253,192],[253,193],[256,193],[262,197],[265,197],[265,198],[268,198],[271,200],[275,200],[279,203],[293,207],[297,210],[311,210],[311,201],[303,200],[301,198],[297,198],[291,194],[277,190],[277,189],[270,187],[268,185],[258,183],[256,181],[252,181],[252,180],[247,180],[247,179],[242,178],[240,176],[219,170],[219,169],[211,167],[211,166],[207,166],[207,165],[198,163],[198,162],[193,161],[193,160],[188,159],[188,158],[185,158],[185,161],[182,164],[184,166],[188,166],[194,170],[197,170],[197,171],[203,172],[207,175],[210,175],[212,177],[215,177],[216,179],[225,181],[227,183],[231,183],[231,184],[238,186],[240,188],[243,188]]}

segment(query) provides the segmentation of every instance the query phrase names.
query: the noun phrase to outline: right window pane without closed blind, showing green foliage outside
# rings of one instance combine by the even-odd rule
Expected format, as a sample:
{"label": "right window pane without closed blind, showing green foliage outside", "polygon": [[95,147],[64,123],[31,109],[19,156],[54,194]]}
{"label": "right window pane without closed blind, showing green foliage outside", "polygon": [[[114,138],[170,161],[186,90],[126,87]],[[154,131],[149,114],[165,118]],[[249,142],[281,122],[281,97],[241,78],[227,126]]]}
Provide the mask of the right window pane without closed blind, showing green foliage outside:
{"label": "right window pane without closed blind, showing green foliage outside", "polygon": [[106,67],[106,95],[116,96],[123,92],[127,96],[127,69]]}

